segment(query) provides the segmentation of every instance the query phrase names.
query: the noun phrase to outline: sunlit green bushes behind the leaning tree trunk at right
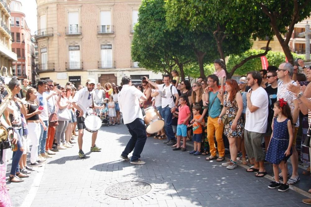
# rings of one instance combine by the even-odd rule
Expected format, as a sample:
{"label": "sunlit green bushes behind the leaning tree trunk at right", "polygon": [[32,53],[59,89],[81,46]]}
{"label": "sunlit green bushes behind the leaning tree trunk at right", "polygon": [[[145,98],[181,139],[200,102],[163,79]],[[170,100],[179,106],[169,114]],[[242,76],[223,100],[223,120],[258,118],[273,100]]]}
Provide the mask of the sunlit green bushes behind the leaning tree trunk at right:
{"label": "sunlit green bushes behind the leaning tree trunk at right", "polygon": [[[264,52],[263,50],[248,50],[240,55],[230,55],[229,60],[227,62],[227,69],[231,71],[234,65],[238,64],[240,61],[244,60],[246,57],[251,55],[257,55]],[[302,58],[305,59],[304,55],[297,55],[296,53],[292,53],[294,59]],[[273,52],[269,51],[266,55],[269,65],[275,65],[278,67],[282,62],[285,62],[285,54],[284,52]],[[235,72],[234,75],[245,75],[249,71],[253,70],[261,70],[262,64],[260,57],[254,58],[252,60],[247,61],[244,65],[239,67]]]}

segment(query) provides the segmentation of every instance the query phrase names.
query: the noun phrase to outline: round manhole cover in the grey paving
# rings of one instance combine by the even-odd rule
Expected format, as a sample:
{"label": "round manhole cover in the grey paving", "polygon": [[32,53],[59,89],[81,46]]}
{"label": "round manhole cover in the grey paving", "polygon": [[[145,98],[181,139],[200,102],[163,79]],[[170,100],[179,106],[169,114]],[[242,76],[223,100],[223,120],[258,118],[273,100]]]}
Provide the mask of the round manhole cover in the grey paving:
{"label": "round manhole cover in the grey paving", "polygon": [[105,193],[115,198],[136,197],[146,194],[151,190],[151,185],[146,182],[121,182],[106,188]]}

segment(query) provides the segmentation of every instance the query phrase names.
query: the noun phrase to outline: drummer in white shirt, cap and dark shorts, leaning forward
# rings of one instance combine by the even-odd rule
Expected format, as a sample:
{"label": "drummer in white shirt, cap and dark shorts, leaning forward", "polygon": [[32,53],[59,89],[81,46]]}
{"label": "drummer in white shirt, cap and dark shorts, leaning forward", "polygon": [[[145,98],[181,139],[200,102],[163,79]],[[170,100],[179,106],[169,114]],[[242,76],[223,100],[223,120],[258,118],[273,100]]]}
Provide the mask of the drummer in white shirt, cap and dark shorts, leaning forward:
{"label": "drummer in white shirt, cap and dark shorts, leaning forward", "polygon": [[[94,103],[94,97],[92,95],[92,91],[95,88],[95,80],[90,78],[86,80],[85,88],[77,91],[76,95],[72,99],[72,105],[77,109],[76,117],[77,117],[77,126],[78,126],[78,145],[79,145],[79,157],[84,158],[85,154],[82,151],[82,143],[83,143],[83,129],[85,129],[84,119],[87,109]],[[97,106],[94,103],[95,109],[101,109],[101,106]],[[91,152],[98,152],[101,150],[98,146],[95,145],[95,141],[97,138],[97,132],[92,133],[92,145]]]}

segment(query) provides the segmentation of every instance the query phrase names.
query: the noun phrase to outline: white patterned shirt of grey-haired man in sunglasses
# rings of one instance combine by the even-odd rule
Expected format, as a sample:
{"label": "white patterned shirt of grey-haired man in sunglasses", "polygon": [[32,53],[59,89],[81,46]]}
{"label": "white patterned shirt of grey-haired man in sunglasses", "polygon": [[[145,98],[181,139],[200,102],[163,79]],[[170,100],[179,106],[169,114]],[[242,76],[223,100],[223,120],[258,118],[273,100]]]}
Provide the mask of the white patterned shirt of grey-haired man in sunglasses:
{"label": "white patterned shirt of grey-haired man in sunglasses", "polygon": [[[292,83],[293,85],[297,85],[295,81],[290,81],[290,83]],[[277,100],[279,100],[280,98],[283,98],[284,101],[286,101],[288,106],[290,107],[292,116],[294,116],[294,109],[295,109],[294,100],[297,98],[292,92],[290,92],[287,89],[288,84],[289,83],[283,84],[283,81],[278,84],[276,98]],[[295,123],[295,127],[299,127],[299,119],[297,119],[297,122]]]}

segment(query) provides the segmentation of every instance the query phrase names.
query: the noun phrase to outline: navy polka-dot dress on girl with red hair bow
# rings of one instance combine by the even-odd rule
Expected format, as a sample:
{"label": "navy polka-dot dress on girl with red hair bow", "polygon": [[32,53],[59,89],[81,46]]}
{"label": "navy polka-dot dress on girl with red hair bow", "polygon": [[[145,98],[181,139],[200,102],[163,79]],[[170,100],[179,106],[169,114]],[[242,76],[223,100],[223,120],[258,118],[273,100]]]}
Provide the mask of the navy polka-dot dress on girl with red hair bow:
{"label": "navy polka-dot dress on girl with red hair bow", "polygon": [[287,121],[278,122],[276,118],[273,119],[273,135],[269,144],[269,148],[266,155],[266,160],[272,164],[280,164],[281,161],[287,161],[290,155],[285,156],[289,143],[289,134],[287,129]]}

